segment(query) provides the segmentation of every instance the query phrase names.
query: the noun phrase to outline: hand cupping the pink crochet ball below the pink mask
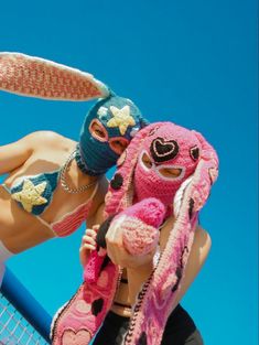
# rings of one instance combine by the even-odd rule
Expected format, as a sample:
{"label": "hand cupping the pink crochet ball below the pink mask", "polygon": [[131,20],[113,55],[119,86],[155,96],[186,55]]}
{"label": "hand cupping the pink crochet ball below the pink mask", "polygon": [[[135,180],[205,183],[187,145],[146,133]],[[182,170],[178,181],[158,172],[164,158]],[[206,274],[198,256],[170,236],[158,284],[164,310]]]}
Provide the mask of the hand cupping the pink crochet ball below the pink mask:
{"label": "hand cupping the pink crochet ball below the pink mask", "polygon": [[123,247],[122,224],[125,216],[112,222],[106,234],[107,254],[110,260],[121,268],[140,269],[152,265],[154,250],[142,256],[130,255]]}

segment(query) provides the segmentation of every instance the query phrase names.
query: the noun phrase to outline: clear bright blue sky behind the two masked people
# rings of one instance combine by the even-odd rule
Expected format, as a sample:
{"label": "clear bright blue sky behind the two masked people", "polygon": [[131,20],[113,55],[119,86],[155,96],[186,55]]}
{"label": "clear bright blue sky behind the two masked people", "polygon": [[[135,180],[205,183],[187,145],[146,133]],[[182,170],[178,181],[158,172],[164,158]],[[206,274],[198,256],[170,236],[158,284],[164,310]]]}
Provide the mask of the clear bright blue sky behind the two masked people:
{"label": "clear bright blue sky behind the two masked people", "polygon": [[[151,121],[197,129],[217,149],[201,216],[213,247],[183,302],[206,345],[257,344],[256,25],[253,0],[1,2],[0,51],[90,72]],[[41,129],[77,139],[89,106],[0,93],[0,144]],[[83,230],[9,261],[50,313],[80,282]]]}

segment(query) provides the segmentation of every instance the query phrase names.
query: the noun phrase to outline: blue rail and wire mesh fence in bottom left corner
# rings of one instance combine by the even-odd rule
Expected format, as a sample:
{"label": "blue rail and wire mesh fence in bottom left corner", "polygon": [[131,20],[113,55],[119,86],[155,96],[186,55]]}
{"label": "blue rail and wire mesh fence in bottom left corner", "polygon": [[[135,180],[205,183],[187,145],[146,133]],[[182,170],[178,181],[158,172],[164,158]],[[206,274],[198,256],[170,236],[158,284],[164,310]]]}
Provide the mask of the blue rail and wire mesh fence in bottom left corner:
{"label": "blue rail and wire mesh fence in bottom left corner", "polygon": [[50,344],[51,316],[10,271],[0,291],[0,345]]}

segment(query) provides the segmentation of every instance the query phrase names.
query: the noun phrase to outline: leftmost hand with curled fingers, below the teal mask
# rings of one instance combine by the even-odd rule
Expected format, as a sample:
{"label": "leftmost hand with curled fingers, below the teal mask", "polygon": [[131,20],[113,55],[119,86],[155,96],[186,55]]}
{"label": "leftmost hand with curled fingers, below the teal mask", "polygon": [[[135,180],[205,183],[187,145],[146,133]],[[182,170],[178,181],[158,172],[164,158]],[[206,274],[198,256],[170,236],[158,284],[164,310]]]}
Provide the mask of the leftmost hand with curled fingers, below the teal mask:
{"label": "leftmost hand with curled fingers, below the teal mask", "polygon": [[79,259],[83,267],[86,266],[90,251],[96,249],[96,233],[99,225],[94,225],[91,229],[86,229],[82,238],[79,248]]}

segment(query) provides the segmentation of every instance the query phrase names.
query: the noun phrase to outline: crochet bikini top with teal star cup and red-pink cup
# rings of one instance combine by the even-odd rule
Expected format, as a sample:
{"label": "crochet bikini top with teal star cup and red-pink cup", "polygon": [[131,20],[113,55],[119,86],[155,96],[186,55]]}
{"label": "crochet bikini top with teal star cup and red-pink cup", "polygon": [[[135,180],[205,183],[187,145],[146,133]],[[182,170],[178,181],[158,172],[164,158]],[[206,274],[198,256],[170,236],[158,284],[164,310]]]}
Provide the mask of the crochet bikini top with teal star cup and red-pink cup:
{"label": "crochet bikini top with teal star cup and red-pink cup", "polygon": [[18,205],[25,212],[35,216],[42,224],[47,226],[57,237],[68,236],[74,233],[87,218],[91,201],[98,188],[96,183],[94,192],[89,198],[61,219],[47,223],[41,215],[45,212],[53,200],[62,168],[48,173],[37,175],[26,175],[18,177],[11,186],[2,184],[4,190],[11,195]]}

